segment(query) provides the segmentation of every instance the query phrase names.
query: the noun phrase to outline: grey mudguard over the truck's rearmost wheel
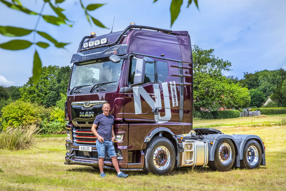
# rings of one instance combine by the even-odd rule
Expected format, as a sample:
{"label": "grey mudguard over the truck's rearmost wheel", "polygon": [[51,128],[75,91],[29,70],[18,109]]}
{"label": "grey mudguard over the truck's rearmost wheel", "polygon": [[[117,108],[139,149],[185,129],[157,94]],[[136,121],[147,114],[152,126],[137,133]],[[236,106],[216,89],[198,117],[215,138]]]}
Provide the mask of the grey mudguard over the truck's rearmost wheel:
{"label": "grey mudguard over the truck's rearmost wheel", "polygon": [[240,155],[239,159],[240,160],[243,159],[243,149],[244,149],[246,142],[249,139],[255,139],[256,141],[258,141],[258,143],[260,144],[260,147],[261,147],[261,151],[262,151],[261,165],[265,166],[264,144],[263,144],[263,141],[261,140],[260,137],[258,137],[257,135],[231,135],[231,136],[235,139],[235,141],[239,145],[239,155]]}

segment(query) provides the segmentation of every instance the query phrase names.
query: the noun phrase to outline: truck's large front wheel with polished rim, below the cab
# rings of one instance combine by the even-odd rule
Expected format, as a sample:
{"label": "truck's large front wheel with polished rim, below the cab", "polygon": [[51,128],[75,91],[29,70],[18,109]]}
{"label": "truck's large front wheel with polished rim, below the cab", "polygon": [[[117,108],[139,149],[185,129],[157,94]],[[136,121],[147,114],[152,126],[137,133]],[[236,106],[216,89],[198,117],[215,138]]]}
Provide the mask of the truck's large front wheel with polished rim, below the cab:
{"label": "truck's large front wheel with polished rim, below the cab", "polygon": [[144,172],[169,174],[175,166],[176,153],[171,141],[165,137],[154,137],[145,149]]}

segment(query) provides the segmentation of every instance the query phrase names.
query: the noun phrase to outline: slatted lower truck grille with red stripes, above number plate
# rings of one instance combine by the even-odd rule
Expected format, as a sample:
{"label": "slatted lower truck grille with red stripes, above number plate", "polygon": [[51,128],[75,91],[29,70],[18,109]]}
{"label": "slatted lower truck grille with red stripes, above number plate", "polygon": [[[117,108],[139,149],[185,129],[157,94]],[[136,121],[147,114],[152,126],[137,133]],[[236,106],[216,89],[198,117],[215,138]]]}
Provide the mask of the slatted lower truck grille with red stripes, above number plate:
{"label": "slatted lower truck grille with red stripes, above number plate", "polygon": [[96,136],[92,133],[91,127],[75,127],[73,130],[74,142],[84,145],[96,145]]}

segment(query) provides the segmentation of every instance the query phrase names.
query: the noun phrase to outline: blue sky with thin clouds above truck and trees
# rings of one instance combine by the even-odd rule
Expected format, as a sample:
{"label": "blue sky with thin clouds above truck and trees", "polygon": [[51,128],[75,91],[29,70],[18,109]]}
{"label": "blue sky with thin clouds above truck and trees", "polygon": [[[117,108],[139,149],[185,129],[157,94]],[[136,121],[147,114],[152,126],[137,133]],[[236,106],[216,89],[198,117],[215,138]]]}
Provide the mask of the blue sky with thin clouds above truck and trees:
{"label": "blue sky with thin clouds above truck and trees", "polygon": [[[22,0],[23,6],[39,12],[42,0]],[[72,66],[70,60],[76,53],[80,41],[90,32],[97,35],[125,29],[130,22],[137,25],[188,31],[192,44],[202,49],[215,49],[215,56],[232,63],[233,75],[243,78],[243,72],[254,73],[261,70],[286,69],[286,1],[285,0],[198,0],[199,10],[192,3],[189,8],[187,0],[181,12],[170,27],[171,0],[149,1],[91,1],[83,0],[84,5],[107,3],[90,12],[109,29],[90,25],[77,0],[66,0],[60,7],[65,8],[67,18],[73,21],[73,27],[55,26],[40,20],[37,30],[45,31],[58,42],[71,43],[66,50],[47,49],[31,46],[26,50],[10,51],[0,48],[0,85],[22,86],[32,76],[32,62],[35,48],[43,66]],[[34,29],[37,16],[27,15],[7,8],[0,3],[0,25]],[[46,5],[44,14],[54,15]],[[13,39],[33,41],[33,34],[19,38],[0,35],[0,44]],[[41,36],[36,41],[47,42]]]}

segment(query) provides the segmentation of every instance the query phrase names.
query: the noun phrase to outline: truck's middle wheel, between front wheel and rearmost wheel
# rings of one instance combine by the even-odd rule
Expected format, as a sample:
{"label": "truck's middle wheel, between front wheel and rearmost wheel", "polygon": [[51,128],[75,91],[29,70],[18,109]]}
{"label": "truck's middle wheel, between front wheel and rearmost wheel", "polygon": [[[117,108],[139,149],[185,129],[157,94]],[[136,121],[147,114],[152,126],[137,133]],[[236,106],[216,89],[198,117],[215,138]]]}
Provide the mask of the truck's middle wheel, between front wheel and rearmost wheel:
{"label": "truck's middle wheel, between front wheel and rearmost wheel", "polygon": [[208,162],[212,170],[231,170],[235,162],[235,147],[230,139],[221,139],[215,148],[214,160]]}

